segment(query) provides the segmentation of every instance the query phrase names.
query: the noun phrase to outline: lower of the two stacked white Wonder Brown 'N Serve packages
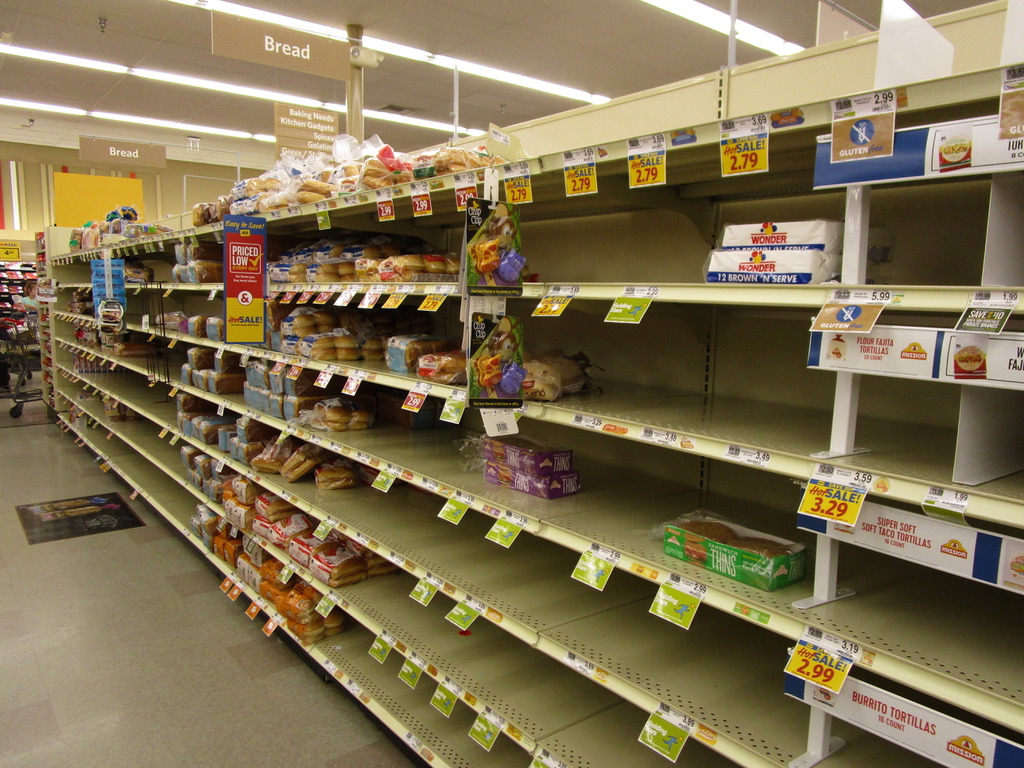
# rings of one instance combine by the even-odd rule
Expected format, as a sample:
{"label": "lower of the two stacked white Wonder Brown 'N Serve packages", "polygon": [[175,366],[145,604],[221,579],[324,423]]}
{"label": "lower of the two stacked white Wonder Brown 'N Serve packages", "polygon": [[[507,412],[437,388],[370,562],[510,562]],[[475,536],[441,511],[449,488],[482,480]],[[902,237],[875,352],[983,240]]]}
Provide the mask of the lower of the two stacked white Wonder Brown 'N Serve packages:
{"label": "lower of the two stacked white Wonder Brown 'N Serve packages", "polygon": [[712,251],[708,283],[768,283],[807,285],[823,283],[839,274],[842,257],[813,248],[765,250],[736,248]]}

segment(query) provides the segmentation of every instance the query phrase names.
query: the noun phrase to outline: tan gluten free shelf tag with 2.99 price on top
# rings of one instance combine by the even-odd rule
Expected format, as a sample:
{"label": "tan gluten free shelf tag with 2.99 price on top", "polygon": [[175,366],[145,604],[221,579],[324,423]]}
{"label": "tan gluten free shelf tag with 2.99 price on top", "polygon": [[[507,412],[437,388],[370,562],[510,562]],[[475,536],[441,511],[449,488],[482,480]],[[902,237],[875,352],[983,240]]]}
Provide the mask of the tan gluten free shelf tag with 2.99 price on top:
{"label": "tan gluten free shelf tag with 2.99 price on top", "polygon": [[895,135],[894,89],[833,101],[833,163],[892,157]]}

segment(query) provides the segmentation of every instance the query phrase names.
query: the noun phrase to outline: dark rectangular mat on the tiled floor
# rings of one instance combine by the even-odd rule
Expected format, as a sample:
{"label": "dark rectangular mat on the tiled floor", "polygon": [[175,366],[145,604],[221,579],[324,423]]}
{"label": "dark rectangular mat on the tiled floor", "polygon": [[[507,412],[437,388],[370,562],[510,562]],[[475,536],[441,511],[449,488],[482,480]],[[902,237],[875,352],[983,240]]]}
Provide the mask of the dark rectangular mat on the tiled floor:
{"label": "dark rectangular mat on the tiled floor", "polygon": [[97,494],[17,507],[29,544],[75,539],[145,525],[120,494]]}

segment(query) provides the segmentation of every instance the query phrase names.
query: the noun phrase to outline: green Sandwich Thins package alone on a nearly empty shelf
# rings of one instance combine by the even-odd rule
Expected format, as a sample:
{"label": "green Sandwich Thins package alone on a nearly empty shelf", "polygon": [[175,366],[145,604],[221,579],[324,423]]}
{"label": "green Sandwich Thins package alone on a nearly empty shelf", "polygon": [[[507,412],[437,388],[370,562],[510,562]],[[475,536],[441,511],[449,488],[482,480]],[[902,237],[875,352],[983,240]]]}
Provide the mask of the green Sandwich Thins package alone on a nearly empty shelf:
{"label": "green Sandwich Thins package alone on a nearly empty shelf", "polygon": [[707,512],[672,521],[665,526],[663,541],[667,555],[766,592],[804,578],[803,544],[726,522]]}

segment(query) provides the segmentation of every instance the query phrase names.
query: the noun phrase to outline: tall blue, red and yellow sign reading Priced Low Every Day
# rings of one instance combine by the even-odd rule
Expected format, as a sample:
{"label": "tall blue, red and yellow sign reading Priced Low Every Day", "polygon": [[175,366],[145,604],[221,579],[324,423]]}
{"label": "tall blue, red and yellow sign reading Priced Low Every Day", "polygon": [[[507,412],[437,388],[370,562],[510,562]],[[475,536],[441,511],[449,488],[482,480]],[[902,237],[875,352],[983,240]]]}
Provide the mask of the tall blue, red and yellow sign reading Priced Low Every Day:
{"label": "tall blue, red and yellow sign reading Priced Low Every Day", "polygon": [[266,219],[224,216],[224,342],[266,341]]}

